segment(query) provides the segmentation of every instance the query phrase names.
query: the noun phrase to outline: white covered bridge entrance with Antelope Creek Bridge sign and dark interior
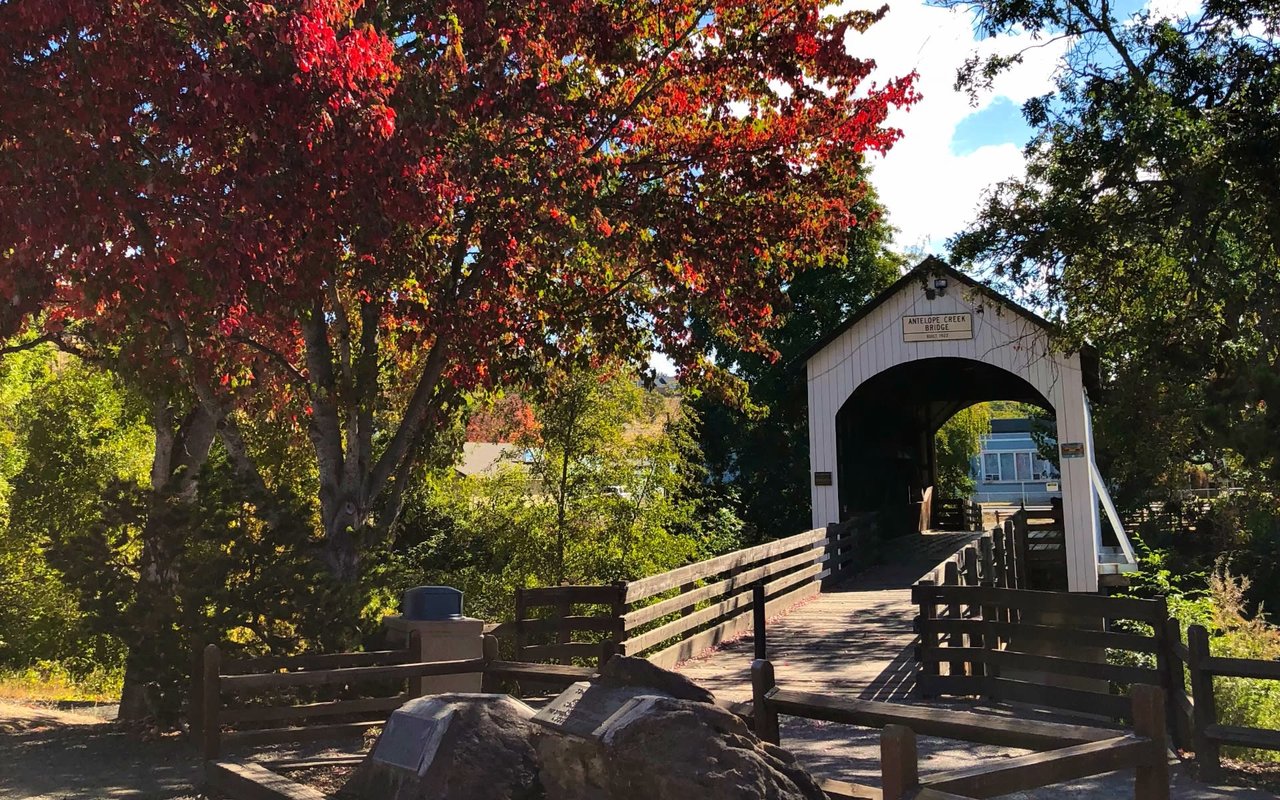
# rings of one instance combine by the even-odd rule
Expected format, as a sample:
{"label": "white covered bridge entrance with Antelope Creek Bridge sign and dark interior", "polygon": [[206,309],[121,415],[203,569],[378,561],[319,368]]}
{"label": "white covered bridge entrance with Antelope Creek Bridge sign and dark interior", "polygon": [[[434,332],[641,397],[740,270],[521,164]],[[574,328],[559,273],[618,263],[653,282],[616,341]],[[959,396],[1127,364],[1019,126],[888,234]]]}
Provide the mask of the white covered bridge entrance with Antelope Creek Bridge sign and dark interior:
{"label": "white covered bridge entrance with Antelope Creek Bridge sign and dark interior", "polygon": [[905,518],[932,485],[942,422],[983,401],[1028,402],[1056,419],[1068,586],[1097,590],[1085,371],[1052,324],[929,257],[803,358],[815,527],[856,511],[900,508]]}

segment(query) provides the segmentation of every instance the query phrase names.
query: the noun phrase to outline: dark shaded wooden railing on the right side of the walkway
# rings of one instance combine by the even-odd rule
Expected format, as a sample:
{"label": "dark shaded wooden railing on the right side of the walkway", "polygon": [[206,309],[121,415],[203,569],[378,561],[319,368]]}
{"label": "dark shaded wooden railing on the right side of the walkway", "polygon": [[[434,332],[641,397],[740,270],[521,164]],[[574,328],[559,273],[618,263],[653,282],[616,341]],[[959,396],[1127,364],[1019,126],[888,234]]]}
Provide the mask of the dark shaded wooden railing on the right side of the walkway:
{"label": "dark shaded wooden railing on the right side of the walkway", "polygon": [[[968,585],[918,585],[911,599],[920,608],[924,696],[980,695],[1116,718],[1129,707],[1114,689],[1171,685],[1164,599]],[[1114,630],[1117,620],[1152,632]],[[1107,663],[1108,652],[1153,654],[1156,664]]]}

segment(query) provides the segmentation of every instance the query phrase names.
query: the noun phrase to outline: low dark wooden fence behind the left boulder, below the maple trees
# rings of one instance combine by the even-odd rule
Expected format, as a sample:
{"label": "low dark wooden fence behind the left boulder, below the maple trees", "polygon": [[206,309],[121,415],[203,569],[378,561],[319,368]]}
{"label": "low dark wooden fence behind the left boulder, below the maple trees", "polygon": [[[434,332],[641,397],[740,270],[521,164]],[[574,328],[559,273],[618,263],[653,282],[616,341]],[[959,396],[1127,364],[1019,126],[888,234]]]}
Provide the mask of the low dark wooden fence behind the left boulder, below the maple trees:
{"label": "low dark wooden fence behind the left boulder, below the maple trees", "polygon": [[480,673],[492,691],[507,681],[564,686],[594,673],[586,667],[499,660],[492,636],[485,636],[483,658],[424,662],[421,654],[416,631],[403,650],[369,653],[224,660],[218,645],[207,645],[193,676],[191,733],[205,758],[214,759],[225,746],[358,735],[422,696],[424,678]]}

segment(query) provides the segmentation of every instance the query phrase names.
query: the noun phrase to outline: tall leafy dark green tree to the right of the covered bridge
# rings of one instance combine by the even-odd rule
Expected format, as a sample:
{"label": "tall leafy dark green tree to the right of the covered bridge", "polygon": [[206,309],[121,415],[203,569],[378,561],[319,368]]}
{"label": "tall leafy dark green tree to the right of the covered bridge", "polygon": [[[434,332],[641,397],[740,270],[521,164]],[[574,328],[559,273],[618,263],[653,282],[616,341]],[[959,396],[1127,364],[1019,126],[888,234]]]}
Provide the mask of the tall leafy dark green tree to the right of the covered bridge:
{"label": "tall leafy dark green tree to the right of the covered bridge", "polygon": [[[943,0],[942,5],[959,5]],[[969,4],[965,4],[968,8]],[[1103,467],[1121,499],[1192,463],[1267,493],[1280,477],[1280,12],[1206,3],[1120,18],[1107,0],[975,4],[988,35],[1070,46],[1027,102],[1027,174],[954,253],[1038,289],[1103,358]],[[972,60],[972,90],[1014,59]]]}

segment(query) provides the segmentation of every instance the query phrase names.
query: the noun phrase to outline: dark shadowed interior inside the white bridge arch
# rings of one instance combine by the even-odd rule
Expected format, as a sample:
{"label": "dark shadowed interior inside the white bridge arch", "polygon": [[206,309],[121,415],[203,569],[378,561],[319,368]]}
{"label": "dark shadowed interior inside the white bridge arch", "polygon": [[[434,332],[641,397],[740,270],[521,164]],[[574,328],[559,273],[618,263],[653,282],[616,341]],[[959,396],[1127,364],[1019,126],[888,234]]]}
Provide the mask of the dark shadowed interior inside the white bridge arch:
{"label": "dark shadowed interior inside the white bridge arch", "polygon": [[933,436],[956,412],[987,401],[1053,407],[1029,383],[970,358],[923,358],[863,383],[836,415],[841,517],[878,511],[908,532],[937,480]]}

